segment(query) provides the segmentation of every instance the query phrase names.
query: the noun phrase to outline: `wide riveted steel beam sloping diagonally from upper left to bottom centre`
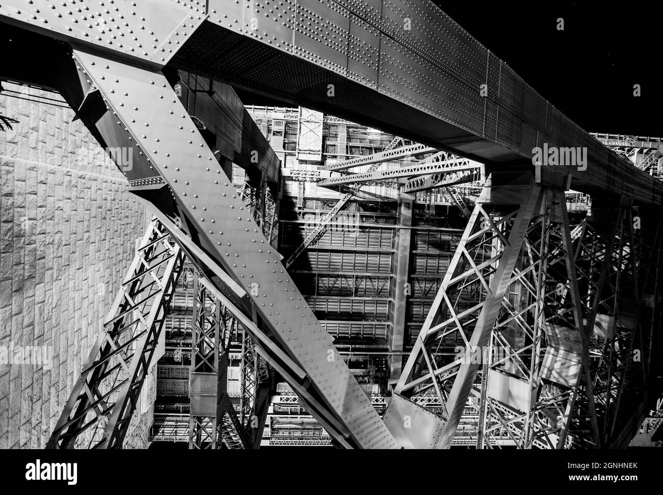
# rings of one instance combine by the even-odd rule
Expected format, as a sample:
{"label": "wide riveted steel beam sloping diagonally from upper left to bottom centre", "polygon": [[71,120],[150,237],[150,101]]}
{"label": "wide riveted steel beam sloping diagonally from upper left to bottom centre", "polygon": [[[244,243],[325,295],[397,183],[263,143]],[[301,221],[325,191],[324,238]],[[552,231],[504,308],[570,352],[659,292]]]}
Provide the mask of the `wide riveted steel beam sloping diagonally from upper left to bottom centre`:
{"label": "wide riveted steel beam sloping diagonally from upper left to bottom centre", "polygon": [[352,444],[396,447],[166,78],[99,55],[76,50],[74,56],[83,91],[68,93],[70,99],[91,85],[99,89],[108,110],[94,123],[83,120],[105,142],[134,148],[130,184],[151,183],[141,195],[179,216],[190,237],[243,287],[278,345],[310,376],[312,394],[350,431]]}

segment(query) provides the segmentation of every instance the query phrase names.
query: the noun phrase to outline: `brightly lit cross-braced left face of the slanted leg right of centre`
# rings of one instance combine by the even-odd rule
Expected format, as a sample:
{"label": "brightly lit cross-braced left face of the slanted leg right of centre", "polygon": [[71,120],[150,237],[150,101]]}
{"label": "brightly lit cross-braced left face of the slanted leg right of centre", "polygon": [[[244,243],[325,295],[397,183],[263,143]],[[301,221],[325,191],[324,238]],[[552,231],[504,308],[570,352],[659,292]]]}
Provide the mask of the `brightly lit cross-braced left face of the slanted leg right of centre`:
{"label": "brightly lit cross-braced left face of the slanted leg right of centre", "polygon": [[[536,198],[530,198],[529,202],[534,201]],[[528,207],[532,209],[533,204]],[[461,360],[445,357],[448,354],[445,351],[474,351],[488,344],[489,333],[484,332],[483,337],[474,331],[476,335],[473,335],[473,329],[481,331],[483,325],[493,326],[485,322],[488,309],[496,307],[490,316],[493,321],[497,318],[499,307],[495,303],[491,305],[492,299],[497,296],[493,296],[495,288],[491,288],[490,282],[498,269],[504,270],[503,266],[499,266],[501,260],[509,261],[511,266],[515,264],[520,250],[512,247],[514,240],[509,243],[507,237],[511,236],[516,219],[519,225],[528,221],[528,218],[522,218],[522,213],[518,215],[519,210],[516,207],[494,219],[494,215],[477,203],[442,281],[442,288],[396,385],[395,392],[407,397],[426,394],[434,389],[442,404],[440,415],[446,421],[455,421],[455,425],[465,406],[465,400],[460,399],[459,395],[467,398],[478,365],[461,364]],[[524,229],[518,229],[523,230],[520,237],[524,237]],[[517,229],[514,235],[518,235]],[[522,239],[518,244],[522,245]],[[502,294],[507,287],[506,282],[499,288]],[[468,374],[471,374],[471,379],[467,378]],[[466,390],[452,390],[456,382],[460,383],[459,379],[466,382],[463,384]]]}

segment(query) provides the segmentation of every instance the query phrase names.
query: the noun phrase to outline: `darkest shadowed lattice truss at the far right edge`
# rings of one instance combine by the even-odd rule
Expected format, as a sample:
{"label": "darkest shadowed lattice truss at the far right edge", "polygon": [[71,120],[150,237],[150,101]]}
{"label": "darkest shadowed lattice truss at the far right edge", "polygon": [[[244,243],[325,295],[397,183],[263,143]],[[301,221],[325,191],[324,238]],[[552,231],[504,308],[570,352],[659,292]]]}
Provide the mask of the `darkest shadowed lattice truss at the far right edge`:
{"label": "darkest shadowed lattice truss at the far right edge", "polygon": [[[652,225],[642,228],[645,220]],[[597,428],[602,446],[624,447],[630,440],[625,433],[637,427],[633,421],[656,373],[660,215],[641,219],[631,205],[624,205],[608,239],[599,231],[591,236],[604,247],[601,273],[590,272],[589,294],[583,298],[593,298],[584,309],[594,322],[588,345]],[[592,254],[584,242],[576,253],[578,266],[583,253]]]}

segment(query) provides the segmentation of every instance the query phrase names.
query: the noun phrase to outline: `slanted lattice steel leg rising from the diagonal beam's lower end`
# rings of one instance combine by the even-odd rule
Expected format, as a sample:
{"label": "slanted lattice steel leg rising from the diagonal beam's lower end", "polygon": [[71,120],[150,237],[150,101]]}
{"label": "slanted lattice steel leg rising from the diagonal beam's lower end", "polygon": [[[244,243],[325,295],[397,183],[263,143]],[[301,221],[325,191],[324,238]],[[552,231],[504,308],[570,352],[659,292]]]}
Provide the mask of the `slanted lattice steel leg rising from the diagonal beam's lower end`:
{"label": "slanted lattice steel leg rising from the diagonal beam's lower end", "polygon": [[[496,184],[497,178],[504,182]],[[505,193],[505,183],[510,184],[506,189],[512,190],[511,195]],[[505,297],[507,289],[524,277],[516,268],[516,263],[536,207],[539,205],[540,208],[542,202],[545,203],[545,192],[546,188],[534,184],[528,174],[520,178],[493,176],[487,182],[396,384],[394,392],[399,400],[394,402],[394,408],[399,413],[410,410],[413,414],[420,414],[420,408],[409,402],[408,398],[428,390],[434,390],[440,399],[442,413],[436,420],[440,424],[435,428],[434,447],[451,445],[467,398],[475,393],[477,374],[481,372],[481,365],[486,364],[485,358],[438,362],[437,351],[460,345],[467,349],[466,354],[471,357],[476,353],[483,354],[484,349],[491,349],[491,339],[501,339],[511,358],[515,358],[513,362],[519,364],[519,368],[514,370],[519,369],[522,376],[526,376],[526,366],[520,362],[520,355],[514,353],[512,345],[507,345],[509,341],[500,333],[493,333],[495,325],[518,325],[518,319],[524,313],[522,308],[507,304]],[[500,195],[503,195],[502,199]],[[491,210],[499,211],[499,214],[491,213]],[[532,266],[526,272],[533,269]],[[505,317],[505,312],[509,316]],[[514,370],[509,371],[512,373]],[[490,366],[483,366],[484,381],[489,372]],[[526,382],[521,381],[526,387]],[[478,393],[483,396],[480,404],[485,412],[486,391],[479,390]],[[392,417],[391,408],[392,404],[389,404],[385,421],[389,427],[394,427],[397,419]],[[483,413],[482,421],[485,423],[486,419]],[[400,439],[398,435],[396,438]],[[479,443],[481,441],[479,437]],[[430,441],[420,446],[427,445],[430,446]]]}

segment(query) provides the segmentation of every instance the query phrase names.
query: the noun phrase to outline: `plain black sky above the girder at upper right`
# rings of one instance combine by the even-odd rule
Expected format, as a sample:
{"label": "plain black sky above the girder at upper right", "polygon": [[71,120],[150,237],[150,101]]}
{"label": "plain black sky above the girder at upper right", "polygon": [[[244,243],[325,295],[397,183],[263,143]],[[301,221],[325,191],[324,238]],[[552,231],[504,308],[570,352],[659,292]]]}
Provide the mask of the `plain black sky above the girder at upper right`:
{"label": "plain black sky above the girder at upper right", "polygon": [[663,136],[660,0],[434,3],[586,131]]}

